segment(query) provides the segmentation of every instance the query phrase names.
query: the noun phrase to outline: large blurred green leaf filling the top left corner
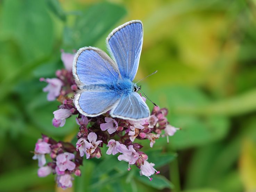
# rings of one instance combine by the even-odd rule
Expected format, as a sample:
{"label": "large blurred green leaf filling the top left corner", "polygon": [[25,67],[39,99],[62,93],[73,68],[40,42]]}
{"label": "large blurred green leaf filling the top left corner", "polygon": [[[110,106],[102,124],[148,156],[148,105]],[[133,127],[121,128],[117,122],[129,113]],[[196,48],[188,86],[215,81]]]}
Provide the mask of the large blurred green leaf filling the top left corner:
{"label": "large blurred green leaf filling the top left corner", "polygon": [[50,55],[54,33],[46,1],[4,1],[1,19],[2,37],[18,42],[25,61]]}

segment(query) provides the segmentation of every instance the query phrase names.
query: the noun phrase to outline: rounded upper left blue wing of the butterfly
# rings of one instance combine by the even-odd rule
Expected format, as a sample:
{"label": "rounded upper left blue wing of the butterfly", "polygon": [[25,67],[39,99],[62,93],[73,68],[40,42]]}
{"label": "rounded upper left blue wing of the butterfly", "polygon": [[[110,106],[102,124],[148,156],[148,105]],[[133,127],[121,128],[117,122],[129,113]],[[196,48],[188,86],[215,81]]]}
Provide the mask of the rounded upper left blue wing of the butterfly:
{"label": "rounded upper left blue wing of the butterfly", "polygon": [[79,88],[84,85],[106,84],[117,81],[117,64],[102,50],[83,47],[75,55],[73,75]]}

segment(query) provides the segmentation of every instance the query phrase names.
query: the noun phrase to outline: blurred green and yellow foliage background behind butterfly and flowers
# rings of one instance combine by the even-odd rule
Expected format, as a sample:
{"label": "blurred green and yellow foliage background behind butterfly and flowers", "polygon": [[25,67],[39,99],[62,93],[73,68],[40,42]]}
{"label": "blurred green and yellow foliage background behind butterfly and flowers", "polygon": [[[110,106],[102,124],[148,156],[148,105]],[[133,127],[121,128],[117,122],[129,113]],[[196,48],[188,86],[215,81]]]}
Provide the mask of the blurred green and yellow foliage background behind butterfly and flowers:
{"label": "blurred green and yellow foliage background behind butterfly and flowers", "polygon": [[142,142],[161,172],[152,182],[103,154],[65,191],[256,191],[256,0],[0,0],[1,192],[61,191],[37,177],[30,151],[41,133],[71,141],[79,127],[51,125],[58,102],[39,78],[63,68],[60,49],[106,51],[108,33],[132,19],[144,28],[135,80],[158,70],[142,90],[182,130],[153,149]]}

